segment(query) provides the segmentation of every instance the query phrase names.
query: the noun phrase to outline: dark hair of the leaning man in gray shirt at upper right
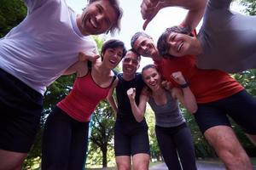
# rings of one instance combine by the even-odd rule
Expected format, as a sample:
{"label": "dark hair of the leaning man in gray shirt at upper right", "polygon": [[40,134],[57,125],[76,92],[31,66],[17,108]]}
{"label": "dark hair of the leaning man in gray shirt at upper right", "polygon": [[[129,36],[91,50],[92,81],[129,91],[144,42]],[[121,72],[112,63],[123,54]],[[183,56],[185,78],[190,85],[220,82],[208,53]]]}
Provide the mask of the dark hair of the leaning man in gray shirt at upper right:
{"label": "dark hair of the leaning man in gray shirt at upper right", "polygon": [[172,26],[169,28],[166,28],[166,31],[164,31],[160,37],[158,38],[157,41],[157,49],[159,51],[159,54],[166,58],[166,57],[173,57],[171,54],[168,53],[169,51],[169,46],[167,43],[167,37],[172,33],[172,32],[177,32],[177,33],[182,33],[182,34],[190,34],[190,29],[188,27],[182,27],[182,26]]}

